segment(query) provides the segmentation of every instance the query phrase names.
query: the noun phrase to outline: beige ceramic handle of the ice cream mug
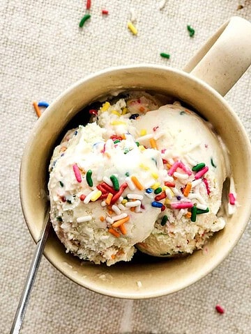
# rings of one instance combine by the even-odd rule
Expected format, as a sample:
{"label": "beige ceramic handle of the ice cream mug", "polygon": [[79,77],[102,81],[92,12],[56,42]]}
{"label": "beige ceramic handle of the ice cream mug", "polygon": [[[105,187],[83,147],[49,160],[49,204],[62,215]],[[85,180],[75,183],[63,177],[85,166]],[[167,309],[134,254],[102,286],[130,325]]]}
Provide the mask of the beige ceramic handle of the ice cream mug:
{"label": "beige ceramic handle of the ice cream mug", "polygon": [[222,24],[183,70],[224,96],[250,65],[251,23],[234,16]]}

